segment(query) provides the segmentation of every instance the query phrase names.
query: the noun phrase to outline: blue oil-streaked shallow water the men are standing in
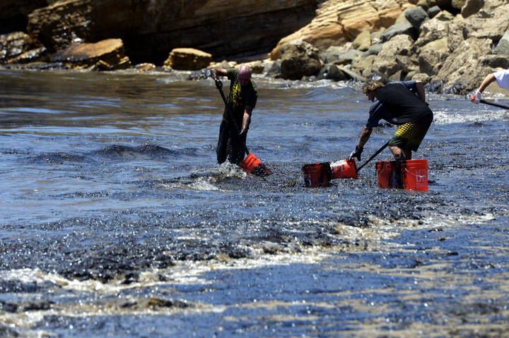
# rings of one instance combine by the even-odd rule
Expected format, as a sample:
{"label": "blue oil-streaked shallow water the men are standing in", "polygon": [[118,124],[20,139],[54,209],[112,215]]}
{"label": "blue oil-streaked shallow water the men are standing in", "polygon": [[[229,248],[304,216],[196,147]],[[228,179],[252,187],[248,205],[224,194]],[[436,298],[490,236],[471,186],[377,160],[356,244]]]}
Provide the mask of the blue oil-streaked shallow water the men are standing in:
{"label": "blue oil-streaked shallow water the men are standing in", "polygon": [[374,163],[312,189],[358,85],[256,78],[263,180],[218,167],[221,97],[186,76],[0,71],[0,335],[509,335],[509,111],[428,97],[428,193]]}

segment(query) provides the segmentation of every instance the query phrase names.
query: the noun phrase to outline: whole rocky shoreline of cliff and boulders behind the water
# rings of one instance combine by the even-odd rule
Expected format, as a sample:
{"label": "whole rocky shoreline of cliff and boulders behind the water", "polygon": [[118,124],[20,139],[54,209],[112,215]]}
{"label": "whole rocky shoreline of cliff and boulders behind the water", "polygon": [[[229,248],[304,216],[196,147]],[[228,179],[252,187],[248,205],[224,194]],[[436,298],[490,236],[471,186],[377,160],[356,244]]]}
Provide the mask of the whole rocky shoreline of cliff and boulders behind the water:
{"label": "whole rocky shoreline of cliff and boulders behind the water", "polygon": [[24,2],[0,5],[4,68],[198,71],[244,62],[273,78],[417,79],[458,95],[509,68],[508,0]]}

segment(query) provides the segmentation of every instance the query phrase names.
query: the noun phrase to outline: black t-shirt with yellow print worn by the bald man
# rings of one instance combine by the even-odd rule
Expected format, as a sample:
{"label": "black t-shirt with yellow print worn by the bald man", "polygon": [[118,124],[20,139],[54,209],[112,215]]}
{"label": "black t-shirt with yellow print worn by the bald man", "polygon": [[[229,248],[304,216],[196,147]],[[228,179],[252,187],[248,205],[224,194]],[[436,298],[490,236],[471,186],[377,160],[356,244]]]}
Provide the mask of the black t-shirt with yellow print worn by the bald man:
{"label": "black t-shirt with yellow print worn by the bald man", "polygon": [[[254,109],[254,106],[256,106],[258,98],[257,87],[252,80],[248,85],[241,86],[236,69],[228,69],[226,76],[230,80],[230,92],[227,99],[228,107],[232,111],[237,126],[242,128],[242,117],[244,116],[245,107]],[[223,118],[230,121],[228,111],[225,110]]]}

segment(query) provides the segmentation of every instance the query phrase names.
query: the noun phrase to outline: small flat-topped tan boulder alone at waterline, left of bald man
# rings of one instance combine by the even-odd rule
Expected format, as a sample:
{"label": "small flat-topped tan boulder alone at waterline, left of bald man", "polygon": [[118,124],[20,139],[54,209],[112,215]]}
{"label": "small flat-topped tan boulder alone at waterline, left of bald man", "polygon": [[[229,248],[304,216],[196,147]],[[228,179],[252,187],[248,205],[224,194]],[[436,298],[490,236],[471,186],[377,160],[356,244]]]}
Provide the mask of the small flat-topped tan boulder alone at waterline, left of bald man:
{"label": "small flat-topped tan boulder alone at waterline, left of bald man", "polygon": [[197,71],[209,66],[212,55],[194,48],[175,48],[164,63],[164,68],[178,71]]}

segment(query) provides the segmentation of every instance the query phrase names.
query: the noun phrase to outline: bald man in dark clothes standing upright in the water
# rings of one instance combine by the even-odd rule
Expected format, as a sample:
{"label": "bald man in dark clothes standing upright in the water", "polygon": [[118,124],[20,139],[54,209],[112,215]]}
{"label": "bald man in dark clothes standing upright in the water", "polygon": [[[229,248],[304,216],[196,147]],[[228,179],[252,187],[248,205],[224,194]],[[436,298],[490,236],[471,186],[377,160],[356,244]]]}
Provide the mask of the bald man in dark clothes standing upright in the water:
{"label": "bald man in dark clothes standing upright in the water", "polygon": [[[217,161],[240,164],[245,155],[245,141],[251,122],[251,114],[256,105],[258,92],[251,80],[249,66],[242,65],[237,69],[213,69],[213,77],[227,76],[230,80],[227,107],[223,113],[223,121],[219,127],[219,139],[216,148]],[[228,113],[230,109],[230,113]],[[231,115],[230,115],[231,114]],[[235,121],[232,121],[233,116]]]}

